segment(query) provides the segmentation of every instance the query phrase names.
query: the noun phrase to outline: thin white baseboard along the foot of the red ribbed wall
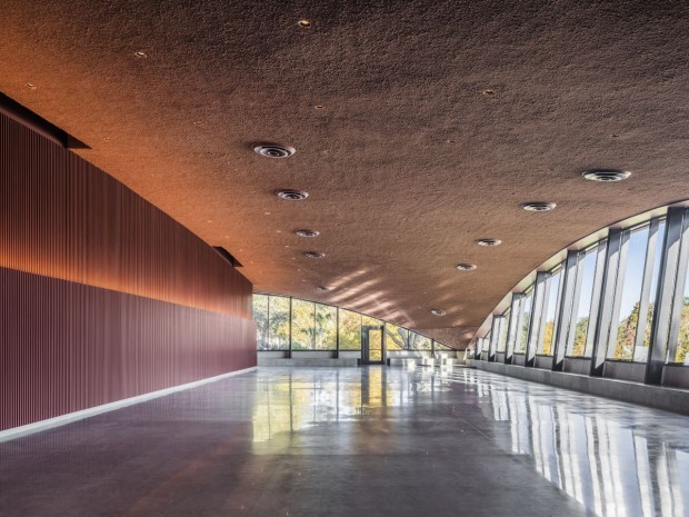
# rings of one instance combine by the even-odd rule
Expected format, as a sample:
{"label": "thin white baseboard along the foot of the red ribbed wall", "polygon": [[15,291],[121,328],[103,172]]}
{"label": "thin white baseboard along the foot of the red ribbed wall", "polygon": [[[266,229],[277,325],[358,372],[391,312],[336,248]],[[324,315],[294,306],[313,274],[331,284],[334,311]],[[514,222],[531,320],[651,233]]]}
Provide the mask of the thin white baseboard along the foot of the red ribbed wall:
{"label": "thin white baseboard along the foot of the red ribbed wall", "polygon": [[124,398],[122,400],[116,400],[114,402],[103,404],[102,406],[94,406],[92,408],[82,409],[80,411],[68,412],[67,415],[60,415],[59,417],[49,418],[47,420],[36,421],[33,424],[27,424],[26,426],[12,427],[11,429],[6,429],[3,431],[0,431],[0,443],[21,438],[22,436],[32,435],[33,433],[40,433],[47,429],[52,429],[53,427],[64,426],[66,424],[71,424],[72,421],[82,420],[83,418],[89,418],[96,415],[100,415],[102,412],[114,411],[116,409],[120,409],[127,406],[132,406],[134,404],[144,402],[146,400],[151,400],[153,398],[162,397],[164,395],[170,395],[176,391],[182,391],[184,389],[196,388],[197,386],[201,386],[208,382],[216,382],[218,380],[222,380],[228,377],[247,374],[248,371],[253,371],[253,370],[256,370],[254,366],[251,368],[244,368],[243,370],[230,371],[229,374],[222,374],[216,377],[209,377],[207,379],[194,380],[193,382],[187,382],[184,385],[173,386],[171,388],[160,389],[158,391],[151,391],[150,394],[137,395],[136,397]]}

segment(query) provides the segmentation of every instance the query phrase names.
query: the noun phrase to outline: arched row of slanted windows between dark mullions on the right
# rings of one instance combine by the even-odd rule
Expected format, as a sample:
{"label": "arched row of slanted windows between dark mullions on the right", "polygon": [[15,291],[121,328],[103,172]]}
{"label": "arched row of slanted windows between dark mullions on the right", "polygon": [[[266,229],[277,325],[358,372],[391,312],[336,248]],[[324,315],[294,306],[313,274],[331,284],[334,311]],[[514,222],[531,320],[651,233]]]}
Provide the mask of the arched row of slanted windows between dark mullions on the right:
{"label": "arched row of slanted windows between dark mullions on the right", "polygon": [[[531,338],[537,354],[552,355],[557,339],[565,357],[591,358],[597,350],[596,357],[607,360],[647,362],[651,339],[661,332],[657,346],[662,349],[653,357],[689,366],[689,208],[670,208],[667,217],[611,232],[579,251],[573,267],[571,253],[567,269],[560,266],[541,280],[539,307],[533,306],[533,285],[513,296],[502,315],[506,325],[498,329],[496,351],[525,354]],[[535,311],[539,320],[532,322]],[[510,321],[513,330],[508,335]],[[490,332],[477,347],[487,351],[489,342]]]}

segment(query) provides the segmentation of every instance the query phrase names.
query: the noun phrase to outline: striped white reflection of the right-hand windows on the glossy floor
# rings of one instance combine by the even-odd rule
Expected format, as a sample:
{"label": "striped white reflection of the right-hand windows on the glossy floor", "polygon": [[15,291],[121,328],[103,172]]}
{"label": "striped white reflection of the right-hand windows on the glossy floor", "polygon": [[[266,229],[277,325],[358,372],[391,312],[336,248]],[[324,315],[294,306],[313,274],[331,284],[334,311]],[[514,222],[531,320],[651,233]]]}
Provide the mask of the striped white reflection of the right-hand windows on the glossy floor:
{"label": "striped white reflection of the right-hand windows on the glossy floor", "polygon": [[596,515],[689,516],[686,417],[478,372],[476,384],[487,416],[509,425],[503,446]]}

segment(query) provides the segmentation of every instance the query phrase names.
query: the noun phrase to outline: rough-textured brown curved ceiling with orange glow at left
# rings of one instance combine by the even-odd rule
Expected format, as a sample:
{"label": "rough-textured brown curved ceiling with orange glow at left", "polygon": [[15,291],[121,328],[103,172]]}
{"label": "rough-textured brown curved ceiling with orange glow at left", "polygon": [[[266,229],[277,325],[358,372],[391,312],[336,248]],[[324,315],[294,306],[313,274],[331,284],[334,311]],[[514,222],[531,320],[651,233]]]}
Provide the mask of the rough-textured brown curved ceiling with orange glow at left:
{"label": "rough-textured brown curved ceiling with orange glow at left", "polygon": [[[0,91],[256,290],[457,344],[559,249],[689,198],[686,1],[4,3]],[[297,153],[252,152],[273,141]]]}

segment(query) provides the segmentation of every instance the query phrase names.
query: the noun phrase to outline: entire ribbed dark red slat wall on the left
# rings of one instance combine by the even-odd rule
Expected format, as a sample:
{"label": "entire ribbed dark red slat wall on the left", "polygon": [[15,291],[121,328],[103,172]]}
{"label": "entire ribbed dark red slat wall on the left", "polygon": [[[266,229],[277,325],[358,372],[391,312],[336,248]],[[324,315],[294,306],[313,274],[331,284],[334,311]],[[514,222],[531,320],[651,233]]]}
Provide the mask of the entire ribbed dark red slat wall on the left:
{"label": "entire ribbed dark red slat wall on the left", "polygon": [[251,284],[0,115],[0,430],[256,365]]}

